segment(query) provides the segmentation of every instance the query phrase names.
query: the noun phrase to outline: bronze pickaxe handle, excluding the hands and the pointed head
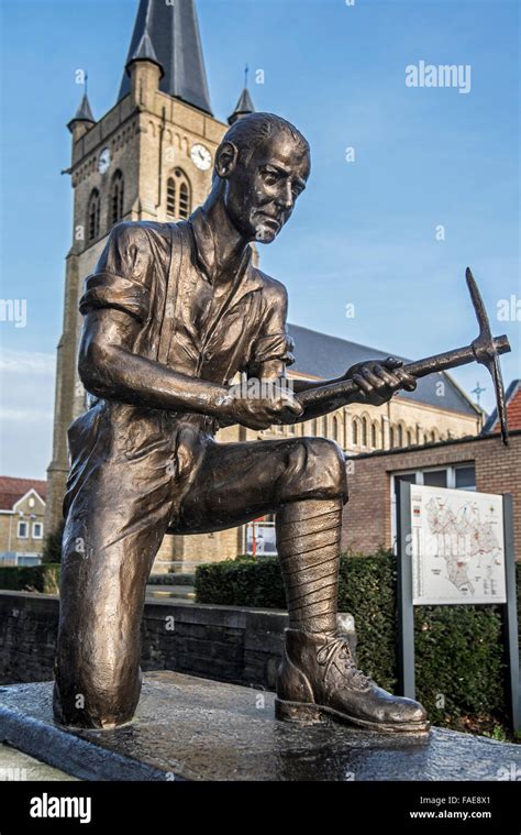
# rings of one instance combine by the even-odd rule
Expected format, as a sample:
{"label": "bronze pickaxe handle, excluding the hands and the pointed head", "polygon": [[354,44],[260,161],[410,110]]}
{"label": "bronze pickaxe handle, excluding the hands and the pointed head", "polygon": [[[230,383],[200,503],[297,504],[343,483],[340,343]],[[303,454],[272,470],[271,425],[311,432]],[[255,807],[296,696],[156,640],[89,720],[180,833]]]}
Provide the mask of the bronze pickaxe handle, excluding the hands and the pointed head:
{"label": "bronze pickaxe handle, excluding the hands and the pointed head", "polygon": [[[492,341],[496,354],[503,354],[510,351],[509,341],[506,336],[497,337]],[[448,371],[448,369],[455,369],[458,365],[467,365],[470,362],[480,362],[484,365],[488,365],[490,360],[494,360],[494,352],[491,355],[488,352],[484,352],[478,340],[476,340],[465,348],[456,348],[454,351],[446,351],[443,354],[428,356],[425,360],[410,362],[407,365],[403,365],[403,371],[407,371],[413,377],[425,377],[429,374],[435,374],[440,371]],[[306,408],[315,405],[318,406],[322,402],[328,400],[328,403],[332,404],[331,408],[333,409],[344,406],[347,398],[356,392],[359,392],[356,383],[353,383],[351,380],[345,380],[340,383],[330,383],[320,388],[310,388],[307,392],[300,392],[296,397]],[[336,404],[335,400],[337,400]]]}

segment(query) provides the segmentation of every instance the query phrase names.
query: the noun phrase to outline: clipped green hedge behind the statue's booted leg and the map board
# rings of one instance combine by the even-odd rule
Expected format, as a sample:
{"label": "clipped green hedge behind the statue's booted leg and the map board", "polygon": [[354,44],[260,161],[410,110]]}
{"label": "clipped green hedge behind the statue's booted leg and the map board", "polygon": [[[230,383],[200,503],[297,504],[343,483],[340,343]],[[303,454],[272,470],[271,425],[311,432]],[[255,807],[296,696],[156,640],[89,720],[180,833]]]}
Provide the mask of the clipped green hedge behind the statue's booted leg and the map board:
{"label": "clipped green hedge behind the statue's booted leg and the map board", "polygon": [[[517,565],[521,611],[521,564]],[[357,662],[386,690],[397,686],[396,558],[344,554],[339,611],[355,617]],[[226,560],[196,570],[198,603],[285,608],[277,558]],[[491,732],[508,729],[507,658],[499,606],[414,608],[418,699],[436,725]]]}

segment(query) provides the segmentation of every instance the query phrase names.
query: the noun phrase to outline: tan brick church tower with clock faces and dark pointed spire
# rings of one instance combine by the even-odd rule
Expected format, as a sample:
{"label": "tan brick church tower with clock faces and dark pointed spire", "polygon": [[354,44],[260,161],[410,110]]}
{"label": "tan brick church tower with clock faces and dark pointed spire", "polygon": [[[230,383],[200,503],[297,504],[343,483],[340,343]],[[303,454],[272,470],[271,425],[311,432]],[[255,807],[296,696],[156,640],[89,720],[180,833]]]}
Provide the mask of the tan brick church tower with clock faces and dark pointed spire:
{"label": "tan brick church tower with clock faces and dark pointed spire", "polygon": [[74,221],[57,348],[47,532],[62,520],[67,427],[86,406],[77,373],[84,279],[114,223],[187,218],[204,200],[228,128],[212,116],[193,0],[140,0],[118,101],[97,121],[85,95],[67,127]]}

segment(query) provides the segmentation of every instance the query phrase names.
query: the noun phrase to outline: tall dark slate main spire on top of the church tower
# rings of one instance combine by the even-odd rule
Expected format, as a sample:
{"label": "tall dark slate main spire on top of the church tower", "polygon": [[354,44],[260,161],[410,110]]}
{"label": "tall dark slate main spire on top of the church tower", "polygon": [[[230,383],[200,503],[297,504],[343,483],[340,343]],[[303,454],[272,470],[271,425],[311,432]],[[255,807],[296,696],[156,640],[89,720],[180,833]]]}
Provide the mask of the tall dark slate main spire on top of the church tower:
{"label": "tall dark slate main spire on top of the church tower", "polygon": [[193,0],[140,0],[118,101],[131,91],[133,61],[157,64],[159,90],[212,114]]}

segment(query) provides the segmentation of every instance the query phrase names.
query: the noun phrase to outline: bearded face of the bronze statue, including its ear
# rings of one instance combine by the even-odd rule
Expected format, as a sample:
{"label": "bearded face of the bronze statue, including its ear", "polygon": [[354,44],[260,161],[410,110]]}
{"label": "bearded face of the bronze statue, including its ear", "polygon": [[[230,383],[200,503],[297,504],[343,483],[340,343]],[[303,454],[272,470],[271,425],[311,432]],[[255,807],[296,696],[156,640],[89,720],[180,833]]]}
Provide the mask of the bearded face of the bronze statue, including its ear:
{"label": "bearded face of the bronze statue, including its ear", "polygon": [[310,173],[308,152],[286,131],[257,145],[226,178],[225,206],[248,241],[270,243],[288,221]]}

